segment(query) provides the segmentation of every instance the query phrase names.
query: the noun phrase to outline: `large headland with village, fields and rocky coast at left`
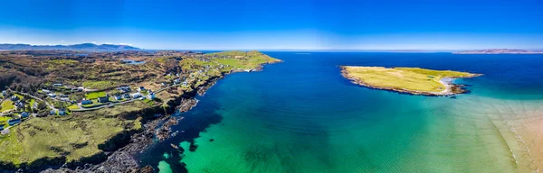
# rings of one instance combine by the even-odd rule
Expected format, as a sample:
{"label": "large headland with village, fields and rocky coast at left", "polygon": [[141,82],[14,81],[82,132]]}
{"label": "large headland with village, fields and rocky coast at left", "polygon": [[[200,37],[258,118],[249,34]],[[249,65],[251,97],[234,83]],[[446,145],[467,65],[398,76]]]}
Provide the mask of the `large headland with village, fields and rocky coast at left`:
{"label": "large headland with village, fields and rocky coast at left", "polygon": [[185,135],[171,132],[182,119],[171,114],[225,75],[281,60],[259,51],[4,50],[0,62],[0,172],[140,172],[133,155]]}

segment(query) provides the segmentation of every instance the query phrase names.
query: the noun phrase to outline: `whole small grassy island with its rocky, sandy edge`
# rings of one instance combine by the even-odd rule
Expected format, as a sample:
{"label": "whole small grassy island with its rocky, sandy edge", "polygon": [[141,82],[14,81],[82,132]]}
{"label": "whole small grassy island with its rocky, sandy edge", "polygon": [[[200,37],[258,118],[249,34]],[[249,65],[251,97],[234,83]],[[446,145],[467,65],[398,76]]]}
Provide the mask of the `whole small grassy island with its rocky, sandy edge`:
{"label": "whole small grassy island with its rocky, sandy edge", "polygon": [[424,96],[452,96],[465,93],[467,91],[462,89],[462,86],[452,84],[452,79],[481,76],[452,70],[356,66],[342,66],[341,74],[364,87]]}

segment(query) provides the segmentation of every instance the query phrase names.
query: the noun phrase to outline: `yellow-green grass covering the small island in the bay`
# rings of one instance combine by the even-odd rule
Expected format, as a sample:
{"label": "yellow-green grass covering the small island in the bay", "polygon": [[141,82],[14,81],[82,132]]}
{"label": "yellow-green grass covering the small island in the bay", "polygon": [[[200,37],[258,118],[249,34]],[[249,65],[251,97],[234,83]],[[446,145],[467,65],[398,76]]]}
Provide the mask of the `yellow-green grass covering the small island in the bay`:
{"label": "yellow-green grass covering the small island in the bay", "polygon": [[474,77],[476,74],[424,68],[342,67],[349,78],[378,88],[395,88],[414,92],[443,92],[443,77]]}

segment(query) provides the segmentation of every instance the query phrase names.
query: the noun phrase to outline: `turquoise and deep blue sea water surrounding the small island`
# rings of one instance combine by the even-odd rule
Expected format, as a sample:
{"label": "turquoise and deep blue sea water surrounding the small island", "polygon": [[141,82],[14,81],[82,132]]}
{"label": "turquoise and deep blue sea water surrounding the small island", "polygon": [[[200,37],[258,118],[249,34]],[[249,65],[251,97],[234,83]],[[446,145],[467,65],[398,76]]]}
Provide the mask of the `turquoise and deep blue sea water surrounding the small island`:
{"label": "turquoise and deep blue sea water surrounding the small island", "polygon": [[[266,52],[284,63],[212,87],[182,132],[143,152],[160,172],[528,172],[541,166],[540,55]],[[358,87],[340,65],[484,74],[469,94]],[[180,154],[170,143],[179,145]]]}

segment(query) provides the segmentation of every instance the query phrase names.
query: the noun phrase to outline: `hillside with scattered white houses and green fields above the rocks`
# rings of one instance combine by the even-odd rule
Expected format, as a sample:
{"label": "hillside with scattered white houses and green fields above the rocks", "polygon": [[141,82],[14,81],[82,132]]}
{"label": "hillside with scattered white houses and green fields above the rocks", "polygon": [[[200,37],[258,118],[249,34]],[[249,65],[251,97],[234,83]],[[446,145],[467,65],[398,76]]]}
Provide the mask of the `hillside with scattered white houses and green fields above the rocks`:
{"label": "hillside with scattered white houses and green fields above the rocks", "polygon": [[[278,61],[258,51],[0,51],[0,147],[10,150],[1,152],[0,160],[16,167],[45,156],[74,161],[96,155],[117,133],[141,128],[141,118],[126,114],[166,109],[169,101],[211,79]],[[104,125],[109,132],[88,129]],[[46,130],[52,126],[72,133],[59,138]],[[84,147],[74,147],[77,143]],[[26,147],[45,155],[34,156]]]}

